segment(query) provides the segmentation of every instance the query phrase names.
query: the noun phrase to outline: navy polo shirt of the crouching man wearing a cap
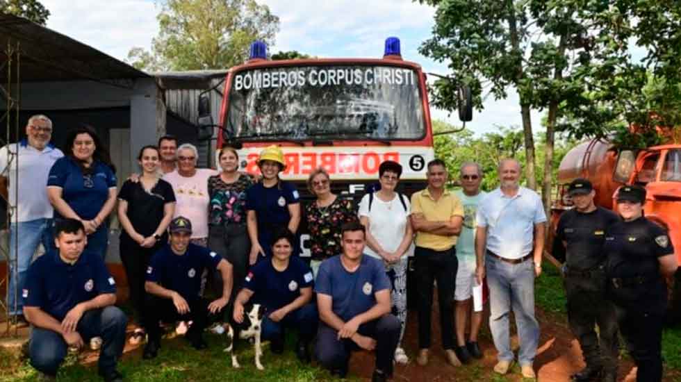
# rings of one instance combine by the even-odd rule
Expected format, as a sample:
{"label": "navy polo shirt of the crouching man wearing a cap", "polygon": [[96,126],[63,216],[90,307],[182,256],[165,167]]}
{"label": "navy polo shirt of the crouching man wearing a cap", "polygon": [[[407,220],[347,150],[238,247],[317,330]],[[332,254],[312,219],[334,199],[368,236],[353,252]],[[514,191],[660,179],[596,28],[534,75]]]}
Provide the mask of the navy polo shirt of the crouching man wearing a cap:
{"label": "navy polo shirt of the crouching man wearing a cap", "polygon": [[147,281],[161,284],[163,288],[178,292],[187,301],[201,294],[201,275],[204,269],[217,269],[222,260],[210,249],[189,243],[183,255],[175,254],[170,244],[165,244],[151,257],[147,267]]}

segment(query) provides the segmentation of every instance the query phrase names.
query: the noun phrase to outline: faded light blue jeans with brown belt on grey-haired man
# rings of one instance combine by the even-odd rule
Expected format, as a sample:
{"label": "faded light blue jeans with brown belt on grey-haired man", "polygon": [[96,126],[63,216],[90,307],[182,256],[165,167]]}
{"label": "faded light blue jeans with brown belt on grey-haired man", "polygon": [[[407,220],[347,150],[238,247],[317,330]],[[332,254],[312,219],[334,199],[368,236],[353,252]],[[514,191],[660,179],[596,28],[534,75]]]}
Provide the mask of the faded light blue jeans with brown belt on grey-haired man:
{"label": "faded light blue jeans with brown belt on grey-haired man", "polygon": [[539,322],[534,318],[534,265],[531,259],[509,264],[486,256],[487,285],[489,286],[489,329],[498,360],[514,359],[509,333],[509,313],[513,309],[520,338],[518,363],[532,365],[539,344]]}

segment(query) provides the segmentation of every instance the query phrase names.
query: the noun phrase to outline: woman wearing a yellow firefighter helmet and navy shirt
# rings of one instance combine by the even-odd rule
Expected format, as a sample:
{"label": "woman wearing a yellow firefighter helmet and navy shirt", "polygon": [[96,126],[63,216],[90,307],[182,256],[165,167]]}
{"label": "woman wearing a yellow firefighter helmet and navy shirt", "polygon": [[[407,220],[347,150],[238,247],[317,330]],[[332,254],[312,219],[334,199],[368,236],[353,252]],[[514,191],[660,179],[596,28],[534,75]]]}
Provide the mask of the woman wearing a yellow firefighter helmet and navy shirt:
{"label": "woman wearing a yellow firefighter helmet and navy shirt", "polygon": [[[255,264],[258,255],[272,256],[272,233],[281,227],[295,235],[300,224],[300,195],[295,185],[282,181],[279,172],[286,169],[284,153],[277,146],[266,147],[260,153],[258,166],[263,174],[259,183],[246,191],[248,235],[251,238],[249,262]],[[297,240],[293,254],[298,254]]]}

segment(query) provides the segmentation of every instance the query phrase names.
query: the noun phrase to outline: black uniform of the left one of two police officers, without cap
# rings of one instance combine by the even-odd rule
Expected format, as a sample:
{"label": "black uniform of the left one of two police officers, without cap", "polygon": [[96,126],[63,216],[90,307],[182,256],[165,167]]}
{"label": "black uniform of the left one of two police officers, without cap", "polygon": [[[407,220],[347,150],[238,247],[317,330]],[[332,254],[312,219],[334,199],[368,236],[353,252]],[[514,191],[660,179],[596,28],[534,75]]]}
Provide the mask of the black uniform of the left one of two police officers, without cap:
{"label": "black uniform of the left one of two police officers, without cap", "polygon": [[569,210],[558,222],[556,238],[566,242],[563,281],[568,300],[568,322],[580,342],[586,363],[586,369],[573,376],[576,381],[588,381],[601,370],[611,379],[616,376],[617,320],[614,306],[606,295],[602,249],[606,229],[618,221],[617,215],[597,207],[589,213]]}

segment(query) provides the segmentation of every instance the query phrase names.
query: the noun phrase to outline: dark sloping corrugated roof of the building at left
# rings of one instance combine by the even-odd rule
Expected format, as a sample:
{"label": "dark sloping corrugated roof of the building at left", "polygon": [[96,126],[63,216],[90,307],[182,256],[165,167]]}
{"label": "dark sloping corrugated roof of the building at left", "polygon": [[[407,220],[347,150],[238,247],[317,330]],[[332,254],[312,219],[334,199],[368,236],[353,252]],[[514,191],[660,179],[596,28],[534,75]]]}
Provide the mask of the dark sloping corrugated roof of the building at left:
{"label": "dark sloping corrugated roof of the building at left", "polygon": [[0,62],[11,42],[21,49],[21,81],[90,79],[130,88],[133,78],[149,78],[130,65],[82,42],[22,17],[0,13]]}

